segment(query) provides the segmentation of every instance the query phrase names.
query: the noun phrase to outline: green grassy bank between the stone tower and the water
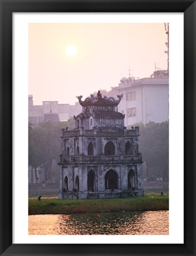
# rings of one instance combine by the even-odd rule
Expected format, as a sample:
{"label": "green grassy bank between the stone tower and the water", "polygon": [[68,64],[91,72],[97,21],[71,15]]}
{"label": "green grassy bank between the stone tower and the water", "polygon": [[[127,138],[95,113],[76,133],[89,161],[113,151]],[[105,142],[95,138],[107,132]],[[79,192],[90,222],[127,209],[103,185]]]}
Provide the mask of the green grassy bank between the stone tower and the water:
{"label": "green grassy bank between the stone tower and the water", "polygon": [[58,198],[44,198],[28,200],[29,214],[49,213],[90,213],[90,212],[118,212],[131,210],[169,210],[169,195],[145,194],[144,197],[126,199],[83,199],[60,200]]}

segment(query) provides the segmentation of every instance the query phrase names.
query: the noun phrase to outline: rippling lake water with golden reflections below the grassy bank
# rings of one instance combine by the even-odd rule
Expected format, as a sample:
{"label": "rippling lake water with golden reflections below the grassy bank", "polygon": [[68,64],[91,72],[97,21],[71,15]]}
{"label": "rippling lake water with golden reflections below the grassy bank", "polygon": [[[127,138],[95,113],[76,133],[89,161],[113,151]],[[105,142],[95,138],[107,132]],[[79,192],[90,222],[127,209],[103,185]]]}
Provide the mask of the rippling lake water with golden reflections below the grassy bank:
{"label": "rippling lake water with golden reflections below the grassy bank", "polygon": [[169,211],[29,216],[29,235],[168,234]]}

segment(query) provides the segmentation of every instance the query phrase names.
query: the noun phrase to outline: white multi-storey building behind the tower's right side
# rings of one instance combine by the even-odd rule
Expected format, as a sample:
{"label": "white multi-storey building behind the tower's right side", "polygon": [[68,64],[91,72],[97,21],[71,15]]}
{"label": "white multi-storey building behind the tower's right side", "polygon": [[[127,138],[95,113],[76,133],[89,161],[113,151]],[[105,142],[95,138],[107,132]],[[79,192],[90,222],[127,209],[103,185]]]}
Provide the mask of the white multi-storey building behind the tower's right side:
{"label": "white multi-storey building behind the tower's right side", "polygon": [[123,94],[119,112],[125,114],[125,126],[169,120],[168,71],[155,71],[151,78],[122,78],[117,94]]}

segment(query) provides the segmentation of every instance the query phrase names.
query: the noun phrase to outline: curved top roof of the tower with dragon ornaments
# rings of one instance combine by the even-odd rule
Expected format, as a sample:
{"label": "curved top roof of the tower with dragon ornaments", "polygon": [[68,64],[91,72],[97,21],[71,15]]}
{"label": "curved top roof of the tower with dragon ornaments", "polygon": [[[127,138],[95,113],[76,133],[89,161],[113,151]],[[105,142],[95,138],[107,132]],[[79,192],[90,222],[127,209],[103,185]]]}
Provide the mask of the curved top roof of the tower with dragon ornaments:
{"label": "curved top roof of the tower with dragon ornaments", "polygon": [[84,101],[81,100],[83,96],[77,96],[77,99],[79,100],[79,103],[83,107],[87,106],[115,106],[118,105],[123,97],[123,94],[117,95],[118,100],[115,100],[113,97],[102,97],[102,94],[100,91],[97,92],[97,97],[95,97],[93,94],[90,94],[90,97],[87,97]]}

